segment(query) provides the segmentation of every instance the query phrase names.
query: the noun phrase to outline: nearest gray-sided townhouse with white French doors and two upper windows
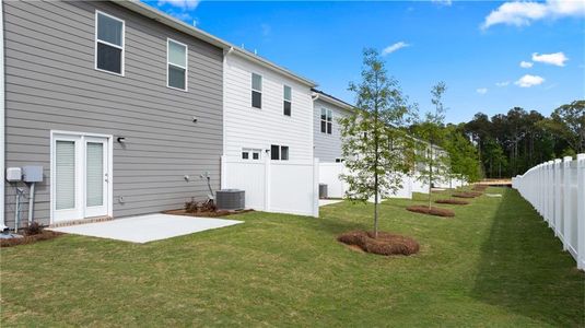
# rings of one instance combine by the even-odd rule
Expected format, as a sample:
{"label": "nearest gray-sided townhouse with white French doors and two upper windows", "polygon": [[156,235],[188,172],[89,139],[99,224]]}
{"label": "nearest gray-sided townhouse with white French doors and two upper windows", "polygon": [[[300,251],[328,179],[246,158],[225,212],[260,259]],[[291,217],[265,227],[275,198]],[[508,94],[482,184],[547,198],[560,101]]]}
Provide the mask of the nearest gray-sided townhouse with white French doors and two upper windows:
{"label": "nearest gray-sided townhouse with white French doors and two upper windows", "polygon": [[[34,218],[126,216],[220,186],[226,43],[134,1],[2,1],[5,168]],[[2,169],[4,173],[4,169]],[[3,181],[4,223],[16,190]]]}

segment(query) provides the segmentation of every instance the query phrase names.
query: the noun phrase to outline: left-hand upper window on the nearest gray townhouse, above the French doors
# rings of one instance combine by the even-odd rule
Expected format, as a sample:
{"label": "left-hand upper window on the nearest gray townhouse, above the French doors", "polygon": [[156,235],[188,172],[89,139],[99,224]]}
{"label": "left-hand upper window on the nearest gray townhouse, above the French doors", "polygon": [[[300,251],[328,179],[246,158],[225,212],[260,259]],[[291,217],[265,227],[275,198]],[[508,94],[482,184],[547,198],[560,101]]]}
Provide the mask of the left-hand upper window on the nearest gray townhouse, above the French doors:
{"label": "left-hand upper window on the nearest gray townhouse, above the French doors", "polygon": [[95,69],[124,75],[124,21],[95,12]]}

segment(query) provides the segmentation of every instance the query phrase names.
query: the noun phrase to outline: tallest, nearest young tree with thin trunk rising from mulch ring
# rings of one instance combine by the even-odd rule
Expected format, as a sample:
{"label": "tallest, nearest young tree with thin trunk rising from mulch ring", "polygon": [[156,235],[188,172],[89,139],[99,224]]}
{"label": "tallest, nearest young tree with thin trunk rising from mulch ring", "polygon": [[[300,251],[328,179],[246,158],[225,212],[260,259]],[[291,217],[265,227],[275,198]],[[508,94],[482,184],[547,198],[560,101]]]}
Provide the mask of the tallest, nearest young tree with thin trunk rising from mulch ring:
{"label": "tallest, nearest young tree with thin trunk rising from mulch ring", "polygon": [[411,107],[388,77],[384,61],[374,49],[365,49],[362,81],[350,83],[356,95],[356,110],[340,119],[342,152],[349,173],[341,175],[348,183],[346,196],[352,200],[374,199],[374,236],[378,233],[379,200],[401,188],[401,176],[410,169],[411,138],[403,125]]}

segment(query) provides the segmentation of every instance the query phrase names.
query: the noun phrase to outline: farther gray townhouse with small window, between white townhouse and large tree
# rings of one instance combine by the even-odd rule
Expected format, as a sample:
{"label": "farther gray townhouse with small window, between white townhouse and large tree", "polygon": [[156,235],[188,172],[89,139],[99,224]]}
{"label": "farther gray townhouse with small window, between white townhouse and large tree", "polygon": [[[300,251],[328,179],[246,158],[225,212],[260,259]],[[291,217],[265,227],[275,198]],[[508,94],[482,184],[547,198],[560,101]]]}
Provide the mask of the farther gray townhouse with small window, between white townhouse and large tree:
{"label": "farther gray townhouse with small window, between white townhouse and large tree", "polygon": [[313,90],[313,134],[314,155],[320,163],[339,163],[342,161],[341,131],[339,118],[348,117],[353,106],[326,94]]}

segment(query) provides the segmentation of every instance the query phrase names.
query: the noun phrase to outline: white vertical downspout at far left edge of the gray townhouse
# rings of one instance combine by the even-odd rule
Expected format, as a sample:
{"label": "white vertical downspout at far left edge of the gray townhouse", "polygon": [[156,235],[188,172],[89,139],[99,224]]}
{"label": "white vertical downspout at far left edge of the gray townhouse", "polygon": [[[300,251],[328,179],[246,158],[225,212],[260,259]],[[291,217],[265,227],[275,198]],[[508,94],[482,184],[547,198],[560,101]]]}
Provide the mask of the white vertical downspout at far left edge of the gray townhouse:
{"label": "white vertical downspout at far left edge of the gray townhouse", "polygon": [[4,221],[4,173],[5,173],[5,98],[4,98],[4,1],[0,0],[0,230],[7,229]]}

